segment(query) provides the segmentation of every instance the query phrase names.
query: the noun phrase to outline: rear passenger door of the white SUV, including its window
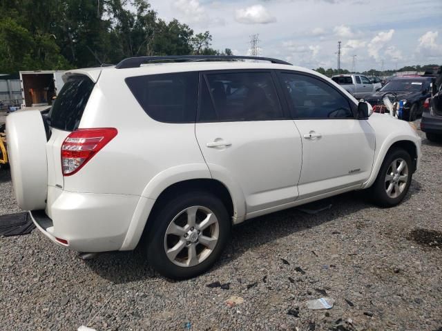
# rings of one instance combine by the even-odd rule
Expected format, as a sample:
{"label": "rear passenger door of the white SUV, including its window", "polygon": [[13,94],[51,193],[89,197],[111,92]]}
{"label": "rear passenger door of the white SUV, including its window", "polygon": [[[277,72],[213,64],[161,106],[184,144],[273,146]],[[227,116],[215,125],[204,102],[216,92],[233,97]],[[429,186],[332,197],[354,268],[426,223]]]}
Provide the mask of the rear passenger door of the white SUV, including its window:
{"label": "rear passenger door of the white SUV, including its window", "polygon": [[298,197],[300,134],[274,80],[270,70],[200,74],[200,149],[212,177],[242,191],[247,214]]}

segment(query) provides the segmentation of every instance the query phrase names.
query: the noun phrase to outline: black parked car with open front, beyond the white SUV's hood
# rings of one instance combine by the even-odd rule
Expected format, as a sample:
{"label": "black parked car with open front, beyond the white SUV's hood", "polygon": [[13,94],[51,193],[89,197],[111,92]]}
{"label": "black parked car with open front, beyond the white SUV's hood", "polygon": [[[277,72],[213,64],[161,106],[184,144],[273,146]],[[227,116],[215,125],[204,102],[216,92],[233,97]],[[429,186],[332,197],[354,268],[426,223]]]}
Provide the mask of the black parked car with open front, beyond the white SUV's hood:
{"label": "black parked car with open front, beyond the white SUV's hood", "polygon": [[383,88],[366,97],[366,101],[373,107],[383,105],[385,94],[394,94],[396,99],[403,101],[403,108],[399,111],[399,118],[405,121],[414,121],[423,112],[423,103],[431,97],[432,77],[395,78]]}

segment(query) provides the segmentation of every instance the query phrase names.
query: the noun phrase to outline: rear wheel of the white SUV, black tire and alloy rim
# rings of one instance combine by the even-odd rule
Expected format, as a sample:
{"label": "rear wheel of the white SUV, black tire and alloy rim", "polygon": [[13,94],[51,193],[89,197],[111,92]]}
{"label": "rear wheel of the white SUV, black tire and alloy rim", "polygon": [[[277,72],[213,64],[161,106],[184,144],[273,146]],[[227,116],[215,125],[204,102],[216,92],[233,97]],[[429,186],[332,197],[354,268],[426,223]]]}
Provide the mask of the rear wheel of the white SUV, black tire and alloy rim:
{"label": "rear wheel of the white SUV, black tire and alloy rim", "polygon": [[153,217],[147,257],[164,277],[189,279],[206,272],[229,239],[229,214],[222,201],[207,192],[178,195]]}

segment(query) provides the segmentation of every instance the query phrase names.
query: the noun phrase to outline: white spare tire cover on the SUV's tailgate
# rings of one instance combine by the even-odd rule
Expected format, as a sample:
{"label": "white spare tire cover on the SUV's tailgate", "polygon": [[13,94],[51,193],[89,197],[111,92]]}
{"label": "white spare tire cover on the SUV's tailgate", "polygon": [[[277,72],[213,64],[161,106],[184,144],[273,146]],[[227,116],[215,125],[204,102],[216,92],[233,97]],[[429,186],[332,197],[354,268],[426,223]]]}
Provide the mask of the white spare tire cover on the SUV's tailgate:
{"label": "white spare tire cover on the SUV's tailgate", "polygon": [[46,132],[38,110],[23,110],[6,117],[6,141],[15,199],[23,210],[46,207],[48,161]]}

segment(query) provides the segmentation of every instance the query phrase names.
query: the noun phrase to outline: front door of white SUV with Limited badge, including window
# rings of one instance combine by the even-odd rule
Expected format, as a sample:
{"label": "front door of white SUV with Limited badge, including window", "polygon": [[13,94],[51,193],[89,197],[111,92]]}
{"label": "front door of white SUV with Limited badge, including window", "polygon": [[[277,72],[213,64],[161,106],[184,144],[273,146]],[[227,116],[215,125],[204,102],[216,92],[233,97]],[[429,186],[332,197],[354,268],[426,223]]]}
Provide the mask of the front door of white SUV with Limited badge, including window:
{"label": "front door of white SUV with Limited badge, including window", "polygon": [[311,74],[280,72],[294,123],[302,137],[299,199],[345,188],[369,178],[374,130],[356,119],[356,106],[331,83]]}

